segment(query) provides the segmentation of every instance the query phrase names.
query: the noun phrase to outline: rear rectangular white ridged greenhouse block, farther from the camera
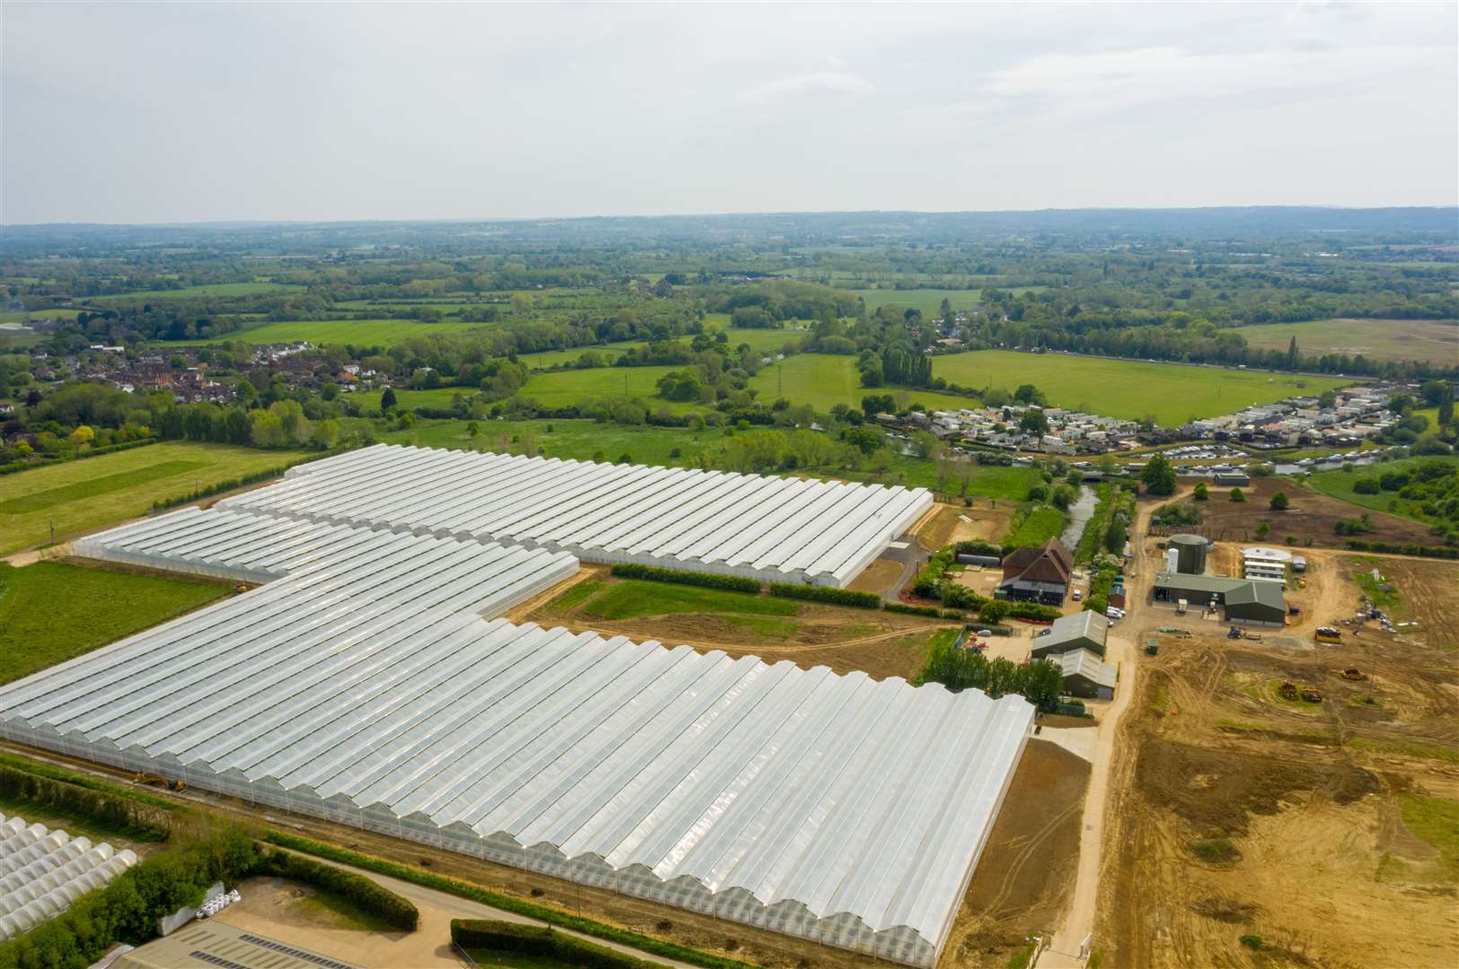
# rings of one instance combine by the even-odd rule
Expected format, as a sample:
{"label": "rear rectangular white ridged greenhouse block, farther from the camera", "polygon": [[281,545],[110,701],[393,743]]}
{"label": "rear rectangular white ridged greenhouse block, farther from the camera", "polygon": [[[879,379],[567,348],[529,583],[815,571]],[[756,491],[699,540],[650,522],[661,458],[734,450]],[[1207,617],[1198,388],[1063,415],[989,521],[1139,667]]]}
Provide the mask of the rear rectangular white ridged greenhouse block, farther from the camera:
{"label": "rear rectangular white ridged greenhouse block, farther from the camera", "polygon": [[376,444],[222,507],[845,586],[932,507],[924,488]]}

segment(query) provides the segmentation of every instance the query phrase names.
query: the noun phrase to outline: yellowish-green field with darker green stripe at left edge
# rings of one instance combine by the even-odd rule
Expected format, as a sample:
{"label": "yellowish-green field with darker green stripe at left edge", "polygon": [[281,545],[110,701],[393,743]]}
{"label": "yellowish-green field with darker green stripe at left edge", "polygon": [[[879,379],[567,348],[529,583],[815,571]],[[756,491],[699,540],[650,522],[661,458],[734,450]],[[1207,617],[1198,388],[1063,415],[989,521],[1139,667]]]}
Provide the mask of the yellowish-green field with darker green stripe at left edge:
{"label": "yellowish-green field with darker green stripe at left edge", "polygon": [[0,554],[146,514],[152,503],[280,468],[299,450],[166,442],[0,476]]}

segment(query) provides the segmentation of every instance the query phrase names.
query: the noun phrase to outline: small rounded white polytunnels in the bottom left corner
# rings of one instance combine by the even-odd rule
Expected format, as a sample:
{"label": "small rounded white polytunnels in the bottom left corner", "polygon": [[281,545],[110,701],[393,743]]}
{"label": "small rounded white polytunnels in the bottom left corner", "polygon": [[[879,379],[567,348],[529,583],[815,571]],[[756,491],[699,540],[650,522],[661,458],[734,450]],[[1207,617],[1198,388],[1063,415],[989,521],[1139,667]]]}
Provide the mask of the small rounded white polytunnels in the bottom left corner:
{"label": "small rounded white polytunnels in the bottom left corner", "polygon": [[0,940],[13,938],[71,906],[137,863],[130,851],[92,845],[23,817],[0,815]]}

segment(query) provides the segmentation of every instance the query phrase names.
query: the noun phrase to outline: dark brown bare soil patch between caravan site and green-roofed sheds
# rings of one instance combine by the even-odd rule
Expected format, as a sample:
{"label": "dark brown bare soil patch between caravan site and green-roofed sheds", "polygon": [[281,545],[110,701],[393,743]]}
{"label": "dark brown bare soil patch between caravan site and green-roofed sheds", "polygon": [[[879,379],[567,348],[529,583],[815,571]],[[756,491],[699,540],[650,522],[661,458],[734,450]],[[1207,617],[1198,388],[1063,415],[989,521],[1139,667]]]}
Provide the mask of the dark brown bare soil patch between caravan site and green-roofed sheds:
{"label": "dark brown bare soil patch between caravan site and green-roofed sheds", "polygon": [[[1398,545],[1443,544],[1443,539],[1430,535],[1428,527],[1418,522],[1383,511],[1369,511],[1281,478],[1253,478],[1252,487],[1242,491],[1246,494],[1246,501],[1231,501],[1227,497],[1228,488],[1212,487],[1211,498],[1199,503],[1201,525],[1179,530],[1253,545],[1281,545],[1285,536],[1294,535],[1299,545],[1306,545],[1307,539],[1312,539],[1313,545],[1341,548],[1344,538],[1334,530],[1334,525],[1339,519],[1355,519],[1367,511],[1373,530],[1360,536],[1364,541]],[[1278,491],[1285,491],[1291,500],[1291,507],[1285,511],[1272,511],[1269,507],[1271,497]],[[1256,535],[1256,527],[1262,522],[1271,526],[1271,535],[1265,538]]]}

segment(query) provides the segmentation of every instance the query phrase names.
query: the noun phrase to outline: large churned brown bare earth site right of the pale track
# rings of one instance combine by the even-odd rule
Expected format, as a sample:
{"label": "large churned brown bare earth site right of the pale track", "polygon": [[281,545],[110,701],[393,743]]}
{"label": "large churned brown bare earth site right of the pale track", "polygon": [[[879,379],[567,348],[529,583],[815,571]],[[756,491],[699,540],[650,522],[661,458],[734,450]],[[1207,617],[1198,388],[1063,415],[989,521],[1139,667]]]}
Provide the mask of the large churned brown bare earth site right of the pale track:
{"label": "large churned brown bare earth site right of the pale track", "polygon": [[1434,822],[1459,810],[1459,567],[1382,557],[1420,631],[1315,646],[1307,627],[1350,616],[1350,576],[1371,565],[1310,558],[1301,628],[1161,635],[1141,659],[1106,820],[1104,965],[1459,965],[1459,847]]}

